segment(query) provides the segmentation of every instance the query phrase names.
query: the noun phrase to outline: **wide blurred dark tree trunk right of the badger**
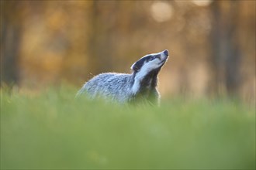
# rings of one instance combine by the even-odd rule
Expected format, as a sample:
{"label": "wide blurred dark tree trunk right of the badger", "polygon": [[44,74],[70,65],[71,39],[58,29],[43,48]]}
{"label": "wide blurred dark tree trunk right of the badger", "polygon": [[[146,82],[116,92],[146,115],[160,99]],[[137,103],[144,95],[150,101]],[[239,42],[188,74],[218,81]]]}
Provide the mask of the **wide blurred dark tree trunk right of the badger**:
{"label": "wide blurred dark tree trunk right of the badger", "polygon": [[236,95],[240,85],[240,49],[237,46],[237,1],[212,4],[213,26],[211,32],[213,68],[212,92]]}

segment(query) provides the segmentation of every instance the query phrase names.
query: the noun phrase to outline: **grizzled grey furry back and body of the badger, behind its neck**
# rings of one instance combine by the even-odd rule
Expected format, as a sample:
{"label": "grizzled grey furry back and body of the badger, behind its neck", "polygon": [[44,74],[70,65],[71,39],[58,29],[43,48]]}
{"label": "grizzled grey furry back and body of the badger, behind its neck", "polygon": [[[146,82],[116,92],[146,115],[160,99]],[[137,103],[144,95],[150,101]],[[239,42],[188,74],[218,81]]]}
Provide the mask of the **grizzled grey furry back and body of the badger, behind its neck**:
{"label": "grizzled grey furry back and body of the badger, behind its neck", "polygon": [[101,73],[88,80],[78,93],[88,93],[91,98],[105,97],[123,103],[130,99],[132,86],[131,74]]}

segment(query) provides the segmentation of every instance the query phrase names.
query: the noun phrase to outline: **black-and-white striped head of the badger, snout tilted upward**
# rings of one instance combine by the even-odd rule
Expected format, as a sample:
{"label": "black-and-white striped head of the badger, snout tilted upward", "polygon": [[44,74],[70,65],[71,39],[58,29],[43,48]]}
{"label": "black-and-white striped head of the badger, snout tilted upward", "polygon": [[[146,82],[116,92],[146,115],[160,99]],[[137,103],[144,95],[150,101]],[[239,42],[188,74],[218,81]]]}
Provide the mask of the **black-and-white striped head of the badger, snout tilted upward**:
{"label": "black-and-white striped head of the badger, snout tilted upward", "polygon": [[160,69],[167,61],[168,56],[167,49],[160,53],[148,54],[139,59],[136,63],[133,63],[130,68],[135,72],[149,73],[152,70]]}

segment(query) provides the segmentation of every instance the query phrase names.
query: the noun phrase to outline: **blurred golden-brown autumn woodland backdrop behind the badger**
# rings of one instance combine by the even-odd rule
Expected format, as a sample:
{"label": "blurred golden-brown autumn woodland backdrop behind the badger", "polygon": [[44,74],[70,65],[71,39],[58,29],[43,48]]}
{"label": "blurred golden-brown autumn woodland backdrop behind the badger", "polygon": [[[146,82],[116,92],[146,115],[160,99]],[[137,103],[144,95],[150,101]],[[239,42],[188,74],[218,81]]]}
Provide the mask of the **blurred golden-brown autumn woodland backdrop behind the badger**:
{"label": "blurred golden-brown autumn woodland backdrop behind the badger", "polygon": [[255,1],[1,1],[1,42],[1,86],[79,89],[168,49],[163,97],[255,102]]}

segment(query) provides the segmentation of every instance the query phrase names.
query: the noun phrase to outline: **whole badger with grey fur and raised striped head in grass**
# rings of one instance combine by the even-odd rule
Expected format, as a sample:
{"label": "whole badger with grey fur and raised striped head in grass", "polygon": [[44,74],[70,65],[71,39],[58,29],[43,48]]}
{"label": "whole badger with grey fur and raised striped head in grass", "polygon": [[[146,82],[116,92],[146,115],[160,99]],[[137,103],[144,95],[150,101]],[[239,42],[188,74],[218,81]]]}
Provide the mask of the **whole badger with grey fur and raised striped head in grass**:
{"label": "whole badger with grey fur and raised striped head in grass", "polygon": [[130,67],[132,73],[100,73],[81,87],[77,97],[103,98],[119,104],[145,101],[159,104],[157,75],[168,60],[168,50],[143,56]]}

